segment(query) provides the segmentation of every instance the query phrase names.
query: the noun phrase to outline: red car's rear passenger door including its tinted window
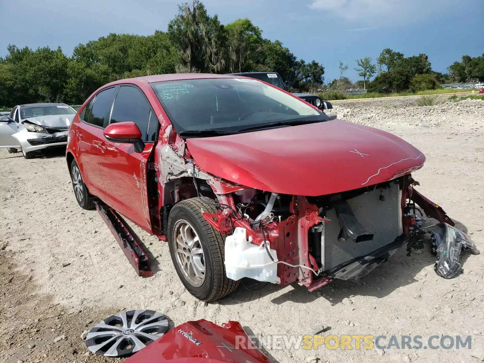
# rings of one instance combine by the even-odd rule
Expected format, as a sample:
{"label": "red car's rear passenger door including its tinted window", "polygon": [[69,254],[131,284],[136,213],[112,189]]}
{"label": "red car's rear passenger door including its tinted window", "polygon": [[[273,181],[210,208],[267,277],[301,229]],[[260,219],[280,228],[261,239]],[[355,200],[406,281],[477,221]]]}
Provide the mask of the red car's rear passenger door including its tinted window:
{"label": "red car's rear passenger door including its tinted window", "polygon": [[99,168],[100,137],[109,120],[117,87],[98,92],[79,114],[76,127],[76,149],[82,179],[89,192],[105,200],[105,191]]}

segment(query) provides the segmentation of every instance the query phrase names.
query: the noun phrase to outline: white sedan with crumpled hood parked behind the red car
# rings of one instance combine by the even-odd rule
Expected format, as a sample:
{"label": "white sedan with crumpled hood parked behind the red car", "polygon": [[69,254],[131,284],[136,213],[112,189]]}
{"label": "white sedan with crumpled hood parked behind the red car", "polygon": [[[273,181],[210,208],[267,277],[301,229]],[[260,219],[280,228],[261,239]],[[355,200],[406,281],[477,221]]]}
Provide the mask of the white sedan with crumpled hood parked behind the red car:
{"label": "white sedan with crumpled hood parked behind the red car", "polygon": [[0,115],[0,148],[22,151],[26,159],[34,151],[67,144],[67,129],[76,110],[60,103],[15,106],[9,116]]}

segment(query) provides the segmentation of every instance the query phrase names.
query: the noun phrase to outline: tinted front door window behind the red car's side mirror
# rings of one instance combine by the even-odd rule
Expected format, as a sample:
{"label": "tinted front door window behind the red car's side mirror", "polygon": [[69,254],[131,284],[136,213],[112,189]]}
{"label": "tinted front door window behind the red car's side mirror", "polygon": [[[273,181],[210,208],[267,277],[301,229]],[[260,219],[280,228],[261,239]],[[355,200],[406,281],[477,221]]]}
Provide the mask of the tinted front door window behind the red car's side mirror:
{"label": "tinted front door window behind the red car's side mirror", "polygon": [[142,91],[131,86],[121,86],[114,101],[110,123],[133,121],[141,131],[144,141],[154,141],[151,125],[151,135],[148,132],[148,123],[153,123],[155,128],[157,126],[154,122],[157,120],[154,115],[151,116],[152,113],[150,103]]}

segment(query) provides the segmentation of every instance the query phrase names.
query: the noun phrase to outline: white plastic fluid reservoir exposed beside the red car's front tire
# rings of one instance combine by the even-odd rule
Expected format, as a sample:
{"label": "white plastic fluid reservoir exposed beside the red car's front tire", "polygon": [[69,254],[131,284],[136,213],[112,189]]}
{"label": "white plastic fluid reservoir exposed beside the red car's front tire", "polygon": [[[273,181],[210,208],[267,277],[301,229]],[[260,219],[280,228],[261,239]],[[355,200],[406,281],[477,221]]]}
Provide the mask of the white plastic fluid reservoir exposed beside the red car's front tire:
{"label": "white plastic fluid reservoir exposed beside the red car's front tire", "polygon": [[[269,249],[272,258],[277,262],[277,253]],[[240,280],[249,277],[257,281],[279,284],[277,263],[271,260],[263,244],[257,246],[247,241],[245,228],[236,227],[234,234],[225,240],[225,270],[227,277]]]}

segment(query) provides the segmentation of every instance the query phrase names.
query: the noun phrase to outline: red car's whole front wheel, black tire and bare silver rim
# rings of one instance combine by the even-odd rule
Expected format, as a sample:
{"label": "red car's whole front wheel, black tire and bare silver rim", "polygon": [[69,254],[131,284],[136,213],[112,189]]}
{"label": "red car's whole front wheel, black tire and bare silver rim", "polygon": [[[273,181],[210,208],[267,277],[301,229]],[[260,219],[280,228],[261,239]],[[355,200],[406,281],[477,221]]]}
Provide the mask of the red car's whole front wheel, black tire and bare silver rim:
{"label": "red car's whole front wheel, black tire and bare silver rim", "polygon": [[197,299],[212,302],[239,285],[227,277],[224,238],[205,220],[201,209],[216,213],[210,198],[191,198],[177,203],[168,216],[168,245],[181,282]]}

